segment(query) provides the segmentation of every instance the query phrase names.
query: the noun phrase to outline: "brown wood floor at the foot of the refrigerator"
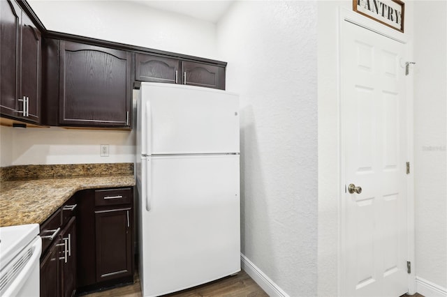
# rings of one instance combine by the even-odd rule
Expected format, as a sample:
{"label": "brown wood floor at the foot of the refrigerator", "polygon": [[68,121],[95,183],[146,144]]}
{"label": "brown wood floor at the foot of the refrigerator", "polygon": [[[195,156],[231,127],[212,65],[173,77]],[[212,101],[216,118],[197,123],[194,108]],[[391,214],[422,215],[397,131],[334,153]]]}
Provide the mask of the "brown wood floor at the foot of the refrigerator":
{"label": "brown wood floor at the foot of the refrigerator", "polygon": [[[135,274],[135,282],[126,287],[111,289],[108,291],[88,294],[89,297],[141,297],[140,280]],[[179,291],[164,297],[205,297],[205,296],[222,296],[222,297],[268,297],[261,287],[245,273],[240,271],[237,275],[224,277],[220,280],[203,284],[192,289]]]}

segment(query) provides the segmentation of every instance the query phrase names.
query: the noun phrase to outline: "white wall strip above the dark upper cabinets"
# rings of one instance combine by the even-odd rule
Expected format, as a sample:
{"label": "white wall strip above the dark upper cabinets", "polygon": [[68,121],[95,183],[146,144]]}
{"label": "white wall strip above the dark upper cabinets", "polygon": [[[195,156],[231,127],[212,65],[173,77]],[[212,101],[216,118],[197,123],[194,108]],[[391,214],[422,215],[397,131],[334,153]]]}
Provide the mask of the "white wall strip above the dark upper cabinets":
{"label": "white wall strip above the dark upper cabinets", "polygon": [[211,22],[149,8],[133,1],[30,0],[51,31],[214,59]]}

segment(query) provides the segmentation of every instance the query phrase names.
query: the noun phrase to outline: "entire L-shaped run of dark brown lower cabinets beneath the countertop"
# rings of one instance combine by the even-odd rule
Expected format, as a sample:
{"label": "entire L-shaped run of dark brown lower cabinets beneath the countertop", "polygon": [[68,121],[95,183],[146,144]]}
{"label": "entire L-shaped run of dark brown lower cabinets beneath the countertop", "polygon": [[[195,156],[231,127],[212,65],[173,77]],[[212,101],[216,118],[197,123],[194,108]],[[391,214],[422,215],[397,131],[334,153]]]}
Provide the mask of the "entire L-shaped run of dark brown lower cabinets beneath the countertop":
{"label": "entire L-shaped run of dark brown lower cabinets beneath the countertop", "polygon": [[133,283],[133,188],[76,192],[41,225],[41,294]]}

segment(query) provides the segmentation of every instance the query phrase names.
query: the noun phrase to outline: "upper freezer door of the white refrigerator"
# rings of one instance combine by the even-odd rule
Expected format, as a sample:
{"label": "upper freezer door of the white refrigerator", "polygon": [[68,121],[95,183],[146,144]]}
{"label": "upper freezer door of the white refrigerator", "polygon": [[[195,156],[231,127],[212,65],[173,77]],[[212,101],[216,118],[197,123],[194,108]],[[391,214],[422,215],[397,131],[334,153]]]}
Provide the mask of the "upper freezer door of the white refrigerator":
{"label": "upper freezer door of the white refrigerator", "polygon": [[143,154],[239,153],[237,95],[150,83],[142,83],[140,92],[139,112],[145,113],[142,133],[148,136]]}

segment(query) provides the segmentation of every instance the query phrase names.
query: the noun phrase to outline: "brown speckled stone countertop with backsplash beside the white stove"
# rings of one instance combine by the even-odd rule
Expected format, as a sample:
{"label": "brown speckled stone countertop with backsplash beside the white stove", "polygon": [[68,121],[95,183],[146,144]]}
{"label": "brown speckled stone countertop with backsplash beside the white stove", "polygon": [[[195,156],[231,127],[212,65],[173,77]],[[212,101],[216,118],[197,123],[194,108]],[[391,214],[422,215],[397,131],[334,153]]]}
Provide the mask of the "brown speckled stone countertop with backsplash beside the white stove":
{"label": "brown speckled stone countertop with backsplash beside the white stove", "polygon": [[[15,224],[42,224],[47,218],[79,190],[95,188],[129,187],[135,185],[133,164],[117,165],[127,169],[110,170],[112,165],[105,165],[103,171],[98,166],[84,172],[73,170],[73,174],[61,170],[63,176],[32,177],[23,179],[26,175],[9,175],[0,183],[0,227]],[[35,165],[34,165],[35,166]],[[39,165],[57,167],[57,165]],[[67,166],[67,165],[64,165]],[[76,165],[71,169],[77,168]],[[86,165],[79,165],[86,167]],[[89,165],[87,167],[92,167]],[[8,170],[13,170],[8,168]],[[25,168],[20,168],[24,172]],[[53,170],[54,172],[54,170]],[[107,175],[106,175],[107,174]],[[64,176],[65,175],[65,176]],[[31,174],[32,176],[32,174]],[[4,177],[4,176],[3,176]],[[6,180],[5,180],[6,179]]]}

